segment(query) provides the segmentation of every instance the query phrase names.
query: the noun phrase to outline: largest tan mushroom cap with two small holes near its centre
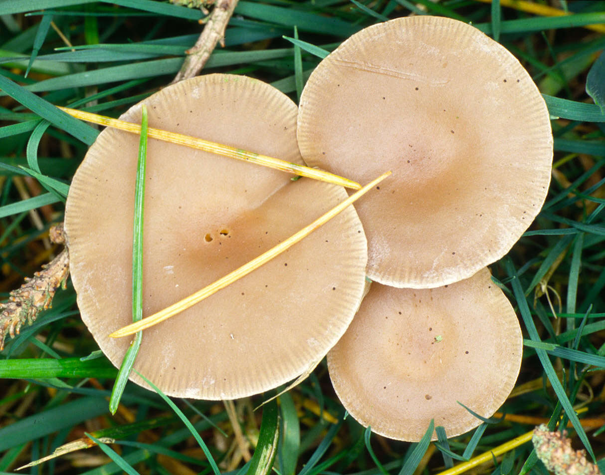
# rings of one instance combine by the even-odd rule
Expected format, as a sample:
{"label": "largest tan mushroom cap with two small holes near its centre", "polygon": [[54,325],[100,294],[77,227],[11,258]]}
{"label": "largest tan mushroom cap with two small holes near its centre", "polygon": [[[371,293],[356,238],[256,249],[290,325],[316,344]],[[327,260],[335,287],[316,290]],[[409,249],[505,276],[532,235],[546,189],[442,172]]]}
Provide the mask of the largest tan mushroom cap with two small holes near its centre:
{"label": "largest tan mushroom cap with two small holes near its centre", "polygon": [[[302,163],[296,105],[243,76],[211,74],[145,99],[149,126]],[[141,106],[123,120],[140,121]],[[105,129],[70,188],[65,229],[82,319],[120,365],[132,321],[139,137]],[[149,139],[143,316],[211,284],[347,197],[344,188]],[[348,207],[274,260],[143,332],[134,369],[166,394],[231,399],[304,372],[338,341],[364,290],[367,243]],[[131,379],[142,384],[136,375]]]}

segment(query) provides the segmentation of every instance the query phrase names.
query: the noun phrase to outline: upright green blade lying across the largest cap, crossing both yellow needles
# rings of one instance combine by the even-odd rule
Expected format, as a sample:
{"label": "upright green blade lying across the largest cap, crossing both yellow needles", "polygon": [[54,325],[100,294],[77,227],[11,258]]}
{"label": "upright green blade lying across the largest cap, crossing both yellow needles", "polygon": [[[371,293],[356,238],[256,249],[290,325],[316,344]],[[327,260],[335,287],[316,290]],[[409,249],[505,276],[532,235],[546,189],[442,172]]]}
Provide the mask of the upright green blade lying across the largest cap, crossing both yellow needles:
{"label": "upright green blade lying across the largest cap, crossing both yellow needles", "polygon": [[[139,160],[137,177],[134,185],[134,224],[132,226],[132,321],[143,318],[143,210],[145,209],[145,169],[147,163],[147,107],[143,104],[141,119],[141,139],[139,142]],[[134,335],[132,343],[126,350],[122,365],[117,373],[116,382],[111,391],[110,412],[115,414],[120,404],[122,393],[137,358],[142,332]]]}

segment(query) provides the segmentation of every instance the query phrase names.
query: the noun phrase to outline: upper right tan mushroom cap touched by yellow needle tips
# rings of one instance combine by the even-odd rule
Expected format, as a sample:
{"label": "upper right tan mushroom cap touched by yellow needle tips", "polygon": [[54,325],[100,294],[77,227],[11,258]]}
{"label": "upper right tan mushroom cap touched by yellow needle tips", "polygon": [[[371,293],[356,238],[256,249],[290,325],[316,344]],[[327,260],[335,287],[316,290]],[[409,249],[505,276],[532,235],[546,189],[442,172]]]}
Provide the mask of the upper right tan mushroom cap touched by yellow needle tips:
{"label": "upper right tan mushroom cap touched by yellow needle tips", "polygon": [[502,257],[540,211],[551,173],[546,105],[517,59],[465,23],[432,16],[365,28],[302,91],[304,160],[364,183],[355,205],[368,275],[436,287]]}

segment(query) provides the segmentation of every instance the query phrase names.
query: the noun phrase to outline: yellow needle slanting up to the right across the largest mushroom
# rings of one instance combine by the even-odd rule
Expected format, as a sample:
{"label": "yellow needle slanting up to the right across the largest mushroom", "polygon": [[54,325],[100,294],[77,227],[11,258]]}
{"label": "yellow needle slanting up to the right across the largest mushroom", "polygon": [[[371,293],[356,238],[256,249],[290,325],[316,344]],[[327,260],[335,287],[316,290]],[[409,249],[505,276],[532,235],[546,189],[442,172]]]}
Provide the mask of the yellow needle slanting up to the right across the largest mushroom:
{"label": "yellow needle slanting up to the right across the largest mushroom", "polygon": [[342,203],[339,203],[334,208],[330,209],[330,211],[317,218],[315,221],[313,221],[313,223],[309,224],[309,226],[302,228],[300,231],[296,232],[296,234],[293,234],[286,240],[282,241],[280,244],[277,244],[277,246],[269,249],[269,251],[264,252],[257,258],[254,258],[249,263],[244,264],[238,269],[235,269],[233,272],[230,272],[226,276],[220,278],[215,283],[210,284],[209,286],[206,286],[201,290],[198,290],[198,292],[195,292],[193,295],[189,295],[180,302],[177,302],[164,310],[160,310],[160,312],[154,313],[153,315],[148,316],[147,318],[143,318],[142,320],[125,326],[119,330],[116,330],[116,332],[111,333],[110,336],[112,338],[119,338],[120,336],[132,335],[132,333],[136,333],[140,330],[144,330],[146,328],[154,326],[155,324],[160,323],[165,319],[176,315],[179,312],[183,312],[183,310],[188,309],[189,307],[204,300],[204,298],[211,296],[215,292],[218,292],[218,290],[223,289],[223,287],[234,283],[236,280],[244,277],[244,275],[250,274],[252,270],[258,269],[258,267],[262,266],[263,264],[266,264],[277,255],[280,255],[282,252],[286,251],[286,249],[288,249],[289,247],[292,247],[294,244],[298,243],[298,241],[301,241],[302,238],[311,234],[311,232],[315,231],[315,229],[319,228],[319,226],[327,223],[327,221],[329,221],[337,214],[339,214],[339,212],[347,208],[347,206],[353,203],[353,201],[362,197],[362,195],[370,191],[371,188],[376,186],[378,183],[382,182],[382,180],[387,178],[390,174],[391,172],[387,171],[384,174],[380,175],[376,180],[373,180],[372,182],[368,183],[362,189],[352,194],[346,200],[342,201]]}

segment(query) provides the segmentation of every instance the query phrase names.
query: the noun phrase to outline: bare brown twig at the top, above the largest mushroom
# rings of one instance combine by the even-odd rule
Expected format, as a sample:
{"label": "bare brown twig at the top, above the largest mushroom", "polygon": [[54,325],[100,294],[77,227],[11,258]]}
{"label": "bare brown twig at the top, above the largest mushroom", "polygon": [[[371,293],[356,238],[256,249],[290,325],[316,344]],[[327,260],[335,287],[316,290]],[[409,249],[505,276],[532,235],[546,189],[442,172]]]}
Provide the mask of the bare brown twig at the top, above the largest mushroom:
{"label": "bare brown twig at the top, above the largest mushroom", "polygon": [[188,7],[201,8],[204,13],[208,13],[206,6],[214,4],[214,8],[208,17],[203,20],[204,30],[200,34],[195,45],[190,50],[185,51],[187,56],[181,66],[180,71],[172,79],[172,83],[179,82],[189,77],[197,76],[201,68],[204,67],[208,58],[220,42],[224,47],[224,34],[227,23],[233,15],[235,5],[238,0],[171,0],[172,3],[186,5]]}

